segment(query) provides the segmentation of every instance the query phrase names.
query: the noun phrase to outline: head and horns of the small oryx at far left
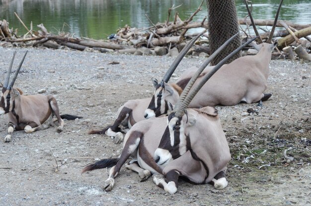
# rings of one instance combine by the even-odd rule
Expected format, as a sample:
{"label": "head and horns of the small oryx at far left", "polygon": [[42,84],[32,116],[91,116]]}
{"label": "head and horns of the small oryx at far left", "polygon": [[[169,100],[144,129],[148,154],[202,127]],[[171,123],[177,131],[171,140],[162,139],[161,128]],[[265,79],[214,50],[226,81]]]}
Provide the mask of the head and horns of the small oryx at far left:
{"label": "head and horns of the small oryx at far left", "polygon": [[19,72],[19,70],[20,70],[20,68],[24,62],[24,59],[26,57],[27,52],[25,53],[23,59],[19,63],[18,68],[15,70],[11,81],[9,82],[15,53],[16,52],[14,52],[10,66],[7,70],[7,74],[6,74],[6,77],[4,80],[4,84],[2,85],[2,92],[1,92],[1,99],[0,99],[0,115],[6,114],[6,113],[9,113],[10,111],[12,111],[12,109],[14,108],[14,104],[15,104],[15,102],[14,102],[15,97],[20,95],[20,93],[21,93],[21,91],[19,89],[13,89],[12,87],[13,87],[14,82],[16,80],[17,74],[18,74],[18,72]]}

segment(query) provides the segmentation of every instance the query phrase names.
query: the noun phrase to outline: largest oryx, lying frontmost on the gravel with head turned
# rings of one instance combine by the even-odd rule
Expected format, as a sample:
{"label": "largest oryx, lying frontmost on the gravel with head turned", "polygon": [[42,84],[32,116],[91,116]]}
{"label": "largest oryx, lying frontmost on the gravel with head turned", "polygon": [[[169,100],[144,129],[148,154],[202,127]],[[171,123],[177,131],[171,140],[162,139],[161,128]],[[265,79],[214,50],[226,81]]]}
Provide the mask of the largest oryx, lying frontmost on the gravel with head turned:
{"label": "largest oryx, lying frontmost on the gravel with head turned", "polygon": [[[230,38],[211,55],[207,60],[207,64],[234,37]],[[215,66],[211,72],[215,73],[229,58],[253,40],[254,38],[236,49],[231,55]],[[184,91],[189,91],[188,86]],[[138,172],[141,181],[147,180],[151,176],[151,173],[155,174],[153,180],[156,185],[169,193],[175,193],[177,191],[177,180],[179,176],[183,176],[193,183],[211,183],[216,189],[225,188],[227,181],[224,171],[231,157],[216,110],[212,107],[188,109],[187,114],[189,117],[188,125],[184,123],[186,121],[180,121],[182,125],[177,125],[177,121],[175,121],[174,130],[176,132],[172,133],[170,132],[170,125],[172,124],[171,115],[168,118],[167,116],[150,118],[136,123],[125,135],[123,150],[118,158],[97,161],[94,164],[86,166],[82,170],[82,173],[94,169],[112,167],[109,171],[109,178],[103,186],[106,191],[110,191],[115,183],[114,178],[120,172],[122,165],[131,156],[133,160],[130,164],[126,165],[128,169]],[[183,118],[186,119],[186,116]],[[167,120],[170,120],[168,127]],[[185,129],[185,125],[190,128]],[[168,139],[169,148],[166,148],[166,145],[161,143],[164,141],[163,139]],[[163,148],[159,152],[158,147],[162,147],[162,145]],[[163,162],[162,153],[167,154],[171,158]],[[169,181],[166,184],[162,175],[168,180],[172,180],[173,183]]]}

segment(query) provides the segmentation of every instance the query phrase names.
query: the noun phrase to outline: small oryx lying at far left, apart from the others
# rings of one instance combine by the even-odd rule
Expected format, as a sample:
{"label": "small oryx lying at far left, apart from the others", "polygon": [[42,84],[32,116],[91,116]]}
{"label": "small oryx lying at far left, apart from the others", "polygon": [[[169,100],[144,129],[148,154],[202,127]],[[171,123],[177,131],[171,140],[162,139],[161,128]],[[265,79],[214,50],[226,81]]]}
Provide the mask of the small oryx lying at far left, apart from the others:
{"label": "small oryx lying at far left, apart from the others", "polygon": [[[62,132],[64,128],[64,119],[74,120],[81,118],[74,115],[60,115],[56,99],[52,95],[22,95],[23,92],[19,88],[13,88],[17,74],[26,57],[25,53],[18,69],[16,69],[10,83],[10,74],[15,52],[11,60],[7,75],[2,85],[2,93],[0,99],[0,116],[8,114],[8,129],[4,141],[11,140],[11,135],[15,130],[25,130],[26,133],[32,133],[37,130],[45,130],[53,125],[52,116],[55,115],[58,120],[58,132]],[[46,123],[46,124],[44,124]]]}

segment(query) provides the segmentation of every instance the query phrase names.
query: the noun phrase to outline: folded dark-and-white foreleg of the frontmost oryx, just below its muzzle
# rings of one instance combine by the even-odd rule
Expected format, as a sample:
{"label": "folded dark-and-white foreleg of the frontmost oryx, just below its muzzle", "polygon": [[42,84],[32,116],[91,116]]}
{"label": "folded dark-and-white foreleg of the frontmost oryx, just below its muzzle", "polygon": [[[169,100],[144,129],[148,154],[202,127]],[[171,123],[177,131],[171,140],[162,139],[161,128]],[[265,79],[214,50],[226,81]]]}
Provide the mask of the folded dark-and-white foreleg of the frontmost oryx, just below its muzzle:
{"label": "folded dark-and-white foreleg of the frontmost oryx, just below its muzzle", "polygon": [[178,177],[179,172],[176,170],[171,170],[166,174],[166,181],[163,175],[154,174],[153,181],[156,186],[164,189],[166,192],[170,194],[174,194],[177,192],[178,187]]}

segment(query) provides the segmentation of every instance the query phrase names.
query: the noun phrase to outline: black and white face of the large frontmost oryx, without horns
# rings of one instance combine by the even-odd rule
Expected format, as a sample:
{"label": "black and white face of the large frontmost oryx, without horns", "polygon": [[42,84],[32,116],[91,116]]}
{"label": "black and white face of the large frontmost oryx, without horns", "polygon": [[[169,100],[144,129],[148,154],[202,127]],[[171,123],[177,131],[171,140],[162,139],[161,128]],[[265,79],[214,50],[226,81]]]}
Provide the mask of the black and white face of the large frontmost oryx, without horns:
{"label": "black and white face of the large frontmost oryx, without horns", "polygon": [[190,138],[185,135],[185,124],[182,118],[174,115],[175,113],[171,113],[168,116],[168,126],[155,151],[155,161],[161,166],[180,157],[190,148]]}

